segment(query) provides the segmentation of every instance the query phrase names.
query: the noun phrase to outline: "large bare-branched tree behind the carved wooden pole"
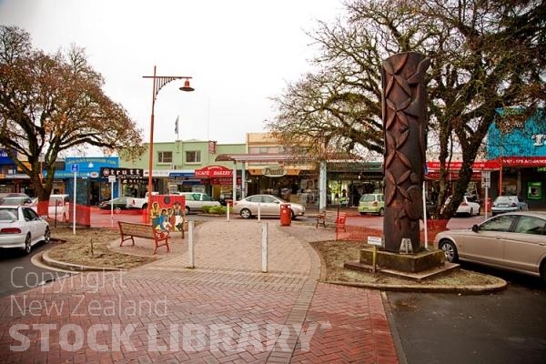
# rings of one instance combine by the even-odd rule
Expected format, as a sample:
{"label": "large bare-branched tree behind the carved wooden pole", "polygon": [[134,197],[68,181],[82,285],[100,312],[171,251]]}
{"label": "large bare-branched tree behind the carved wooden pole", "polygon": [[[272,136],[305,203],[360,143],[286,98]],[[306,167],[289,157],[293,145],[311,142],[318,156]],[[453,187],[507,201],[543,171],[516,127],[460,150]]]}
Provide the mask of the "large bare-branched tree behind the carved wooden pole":
{"label": "large bare-branched tree behind the carved wooden pole", "polygon": [[355,0],[346,8],[345,17],[319,23],[310,34],[320,46],[314,60],[320,71],[275,98],[278,118],[268,127],[287,141],[288,133],[328,136],[332,148],[382,152],[379,65],[396,53],[420,52],[431,59],[428,110],[440,151],[439,205],[447,197],[453,148],[462,156],[454,197],[443,211],[450,217],[490,124],[511,125],[496,111],[524,106],[526,117],[544,100],[546,6],[541,0]]}

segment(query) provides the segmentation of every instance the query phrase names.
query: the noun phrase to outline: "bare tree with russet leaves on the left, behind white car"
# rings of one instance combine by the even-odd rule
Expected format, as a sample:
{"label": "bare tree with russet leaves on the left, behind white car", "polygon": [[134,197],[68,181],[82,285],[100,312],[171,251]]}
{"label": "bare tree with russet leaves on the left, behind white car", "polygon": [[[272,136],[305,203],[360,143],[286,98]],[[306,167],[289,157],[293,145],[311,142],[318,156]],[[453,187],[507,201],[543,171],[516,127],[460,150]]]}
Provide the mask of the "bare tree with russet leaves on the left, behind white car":
{"label": "bare tree with russet leaves on the left, behind white car", "polygon": [[142,153],[141,131],[103,85],[82,48],[45,55],[24,30],[0,26],[0,145],[30,177],[40,201],[51,194],[63,151],[95,146],[106,154]]}

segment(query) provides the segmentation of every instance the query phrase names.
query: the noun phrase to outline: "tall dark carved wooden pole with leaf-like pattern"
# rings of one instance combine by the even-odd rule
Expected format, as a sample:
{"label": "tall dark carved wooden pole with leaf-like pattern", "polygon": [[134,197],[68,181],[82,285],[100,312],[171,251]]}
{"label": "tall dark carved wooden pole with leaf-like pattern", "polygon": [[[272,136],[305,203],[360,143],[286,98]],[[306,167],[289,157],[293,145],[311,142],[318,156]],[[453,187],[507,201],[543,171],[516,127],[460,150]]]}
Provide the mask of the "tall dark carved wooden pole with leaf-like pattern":
{"label": "tall dark carved wooden pole with leaf-like pattern", "polygon": [[425,72],[430,59],[400,53],[383,61],[383,161],[385,249],[399,252],[402,238],[420,250],[422,182],[426,163],[427,95]]}

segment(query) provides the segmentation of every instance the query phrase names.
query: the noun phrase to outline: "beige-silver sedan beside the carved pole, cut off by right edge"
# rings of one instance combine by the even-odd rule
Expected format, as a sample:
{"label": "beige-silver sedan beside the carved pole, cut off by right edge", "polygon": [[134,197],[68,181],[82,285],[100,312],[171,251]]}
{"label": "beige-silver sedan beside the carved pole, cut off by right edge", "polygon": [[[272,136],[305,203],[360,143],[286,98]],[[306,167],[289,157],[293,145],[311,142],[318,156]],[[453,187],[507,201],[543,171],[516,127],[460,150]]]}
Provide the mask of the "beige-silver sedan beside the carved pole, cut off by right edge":
{"label": "beige-silver sedan beside the carved pole, cut off by right edge", "polygon": [[546,212],[517,211],[485,220],[471,229],[447,230],[434,239],[446,260],[541,276],[546,281]]}

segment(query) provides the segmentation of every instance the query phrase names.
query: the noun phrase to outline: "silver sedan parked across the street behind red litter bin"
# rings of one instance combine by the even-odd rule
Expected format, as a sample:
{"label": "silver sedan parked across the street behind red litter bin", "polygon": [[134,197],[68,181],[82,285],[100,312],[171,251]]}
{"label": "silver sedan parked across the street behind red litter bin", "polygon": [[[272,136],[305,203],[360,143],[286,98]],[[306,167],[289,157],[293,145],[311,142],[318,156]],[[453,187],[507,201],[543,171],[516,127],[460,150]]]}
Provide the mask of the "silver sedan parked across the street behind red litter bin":
{"label": "silver sedan parked across the street behind red litter bin", "polygon": [[290,204],[292,219],[305,215],[303,205],[287,202],[273,195],[252,195],[233,202],[233,212],[241,217],[250,218],[258,216],[258,204],[260,216],[280,216],[280,204]]}

